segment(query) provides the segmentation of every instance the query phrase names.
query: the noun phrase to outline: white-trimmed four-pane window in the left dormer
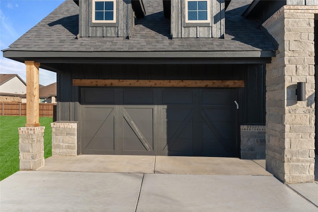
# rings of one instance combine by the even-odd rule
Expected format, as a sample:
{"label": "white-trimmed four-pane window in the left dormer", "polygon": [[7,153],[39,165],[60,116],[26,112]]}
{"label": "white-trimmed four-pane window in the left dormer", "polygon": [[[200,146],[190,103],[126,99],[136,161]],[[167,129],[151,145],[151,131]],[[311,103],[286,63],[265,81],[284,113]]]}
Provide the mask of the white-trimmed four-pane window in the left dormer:
{"label": "white-trimmed four-pane window in the left dormer", "polygon": [[93,23],[116,23],[116,0],[93,0]]}

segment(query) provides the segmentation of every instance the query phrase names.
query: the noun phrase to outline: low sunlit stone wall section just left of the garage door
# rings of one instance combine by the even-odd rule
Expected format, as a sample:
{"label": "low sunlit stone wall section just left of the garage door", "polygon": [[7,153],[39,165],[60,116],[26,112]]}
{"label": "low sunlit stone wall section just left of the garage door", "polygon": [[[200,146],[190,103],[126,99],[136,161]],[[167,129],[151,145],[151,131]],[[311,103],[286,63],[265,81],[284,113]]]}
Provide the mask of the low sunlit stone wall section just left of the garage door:
{"label": "low sunlit stone wall section just left of the garage door", "polygon": [[76,156],[77,153],[77,123],[51,123],[52,156]]}

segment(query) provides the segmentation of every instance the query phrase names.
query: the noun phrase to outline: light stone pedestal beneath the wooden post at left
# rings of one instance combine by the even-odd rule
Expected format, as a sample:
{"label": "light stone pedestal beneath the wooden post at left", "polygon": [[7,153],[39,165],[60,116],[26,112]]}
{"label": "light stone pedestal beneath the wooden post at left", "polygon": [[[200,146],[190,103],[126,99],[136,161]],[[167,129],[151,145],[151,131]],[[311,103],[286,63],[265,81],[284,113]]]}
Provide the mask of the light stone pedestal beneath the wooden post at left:
{"label": "light stone pedestal beneath the wooden post at left", "polygon": [[19,128],[20,170],[36,170],[44,166],[45,127]]}

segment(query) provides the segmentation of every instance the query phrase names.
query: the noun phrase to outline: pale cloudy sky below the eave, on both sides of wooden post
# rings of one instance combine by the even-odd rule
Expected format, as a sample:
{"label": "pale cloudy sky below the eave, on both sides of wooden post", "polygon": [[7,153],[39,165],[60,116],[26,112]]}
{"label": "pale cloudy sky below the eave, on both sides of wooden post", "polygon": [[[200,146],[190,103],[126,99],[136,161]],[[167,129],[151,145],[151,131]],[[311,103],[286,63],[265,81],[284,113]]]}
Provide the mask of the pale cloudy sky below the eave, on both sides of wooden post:
{"label": "pale cloudy sky below the eave, on both sides of wooden post", "polygon": [[[26,82],[26,68],[23,63],[19,63],[7,58],[0,58],[0,73],[16,73]],[[44,69],[39,70],[39,83],[49,85],[56,82],[56,73]]]}

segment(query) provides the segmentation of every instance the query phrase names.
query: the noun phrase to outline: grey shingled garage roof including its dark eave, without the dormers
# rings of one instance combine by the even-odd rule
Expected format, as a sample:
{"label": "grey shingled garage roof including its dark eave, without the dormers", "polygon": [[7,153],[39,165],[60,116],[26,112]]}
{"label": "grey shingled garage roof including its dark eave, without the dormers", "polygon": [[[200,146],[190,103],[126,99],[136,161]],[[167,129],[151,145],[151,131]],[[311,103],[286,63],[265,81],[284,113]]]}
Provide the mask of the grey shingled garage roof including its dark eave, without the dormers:
{"label": "grey shingled garage roof including its dark eave, without the dormers", "polygon": [[[77,37],[79,7],[66,0],[36,26],[3,50],[20,62],[29,58],[270,58],[275,46],[255,20],[241,14],[252,0],[232,0],[226,11],[226,34],[220,38],[170,37],[162,0],[143,0],[147,15],[137,19],[128,38]],[[41,63],[42,66],[42,63]]]}

